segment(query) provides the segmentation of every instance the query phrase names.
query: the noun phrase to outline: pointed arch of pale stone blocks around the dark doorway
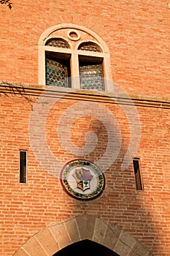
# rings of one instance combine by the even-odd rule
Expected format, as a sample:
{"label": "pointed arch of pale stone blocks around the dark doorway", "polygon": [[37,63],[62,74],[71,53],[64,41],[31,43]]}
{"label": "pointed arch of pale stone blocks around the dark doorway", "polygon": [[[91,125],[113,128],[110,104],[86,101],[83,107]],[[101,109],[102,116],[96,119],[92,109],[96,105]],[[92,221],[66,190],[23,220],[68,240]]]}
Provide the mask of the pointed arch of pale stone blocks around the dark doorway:
{"label": "pointed arch of pale stone blocks around the dark doorway", "polygon": [[52,256],[66,246],[90,240],[120,256],[153,256],[120,227],[86,214],[46,227],[28,239],[13,256]]}

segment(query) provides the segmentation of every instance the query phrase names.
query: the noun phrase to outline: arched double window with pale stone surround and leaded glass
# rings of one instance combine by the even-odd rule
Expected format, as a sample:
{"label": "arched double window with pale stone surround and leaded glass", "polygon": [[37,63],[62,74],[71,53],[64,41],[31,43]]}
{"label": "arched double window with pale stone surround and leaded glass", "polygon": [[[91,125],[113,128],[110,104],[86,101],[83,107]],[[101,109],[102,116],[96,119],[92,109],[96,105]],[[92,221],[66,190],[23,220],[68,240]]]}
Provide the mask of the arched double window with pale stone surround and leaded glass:
{"label": "arched double window with pale stone surround and leaded glass", "polygon": [[72,24],[53,26],[39,39],[39,84],[112,91],[107,45],[96,33]]}

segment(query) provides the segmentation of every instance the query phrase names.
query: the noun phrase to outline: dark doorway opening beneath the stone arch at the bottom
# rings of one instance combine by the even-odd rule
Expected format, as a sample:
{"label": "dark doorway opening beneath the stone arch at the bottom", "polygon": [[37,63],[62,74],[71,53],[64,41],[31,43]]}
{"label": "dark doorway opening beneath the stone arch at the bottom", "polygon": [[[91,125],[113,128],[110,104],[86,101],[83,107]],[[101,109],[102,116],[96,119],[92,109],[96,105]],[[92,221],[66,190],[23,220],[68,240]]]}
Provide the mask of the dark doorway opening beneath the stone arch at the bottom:
{"label": "dark doorway opening beneath the stone arch at the bottom", "polygon": [[79,241],[77,243],[66,246],[60,251],[56,252],[53,256],[66,256],[66,255],[74,255],[74,256],[120,256],[117,253],[112,252],[111,249],[98,244],[94,241],[90,241],[85,239],[83,241]]}

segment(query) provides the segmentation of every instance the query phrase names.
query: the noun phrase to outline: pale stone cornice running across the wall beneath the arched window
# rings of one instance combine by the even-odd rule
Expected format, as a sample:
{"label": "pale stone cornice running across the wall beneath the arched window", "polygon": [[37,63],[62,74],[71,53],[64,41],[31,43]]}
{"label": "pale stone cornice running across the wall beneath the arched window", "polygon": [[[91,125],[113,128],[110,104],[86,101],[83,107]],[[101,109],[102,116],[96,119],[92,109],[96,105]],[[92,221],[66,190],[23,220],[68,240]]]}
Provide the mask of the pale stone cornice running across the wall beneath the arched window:
{"label": "pale stone cornice running across the wall beneath the arched window", "polygon": [[1,94],[23,94],[28,97],[43,94],[45,97],[59,97],[93,102],[104,102],[120,105],[136,105],[150,108],[170,108],[170,97],[151,97],[135,94],[115,94],[100,91],[82,91],[59,87],[37,86],[22,83],[0,83]]}

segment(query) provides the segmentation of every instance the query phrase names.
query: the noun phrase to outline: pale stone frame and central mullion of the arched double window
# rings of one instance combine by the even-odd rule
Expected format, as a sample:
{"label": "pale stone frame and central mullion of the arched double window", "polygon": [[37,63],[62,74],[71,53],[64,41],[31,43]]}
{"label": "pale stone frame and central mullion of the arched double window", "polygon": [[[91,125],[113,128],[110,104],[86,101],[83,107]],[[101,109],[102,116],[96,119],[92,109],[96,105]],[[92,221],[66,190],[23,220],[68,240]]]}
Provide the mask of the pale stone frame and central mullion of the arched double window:
{"label": "pale stone frame and central mullion of the arched double window", "polygon": [[[53,33],[61,31],[61,29],[67,29],[67,38],[61,37],[61,35],[53,36]],[[76,37],[70,37],[71,33],[76,33]],[[86,33],[89,37],[93,39],[81,39],[81,33]],[[49,39],[61,38],[64,41],[68,42],[69,48],[55,48],[52,46],[47,46],[45,43]],[[73,43],[74,47],[73,47]],[[79,45],[83,42],[92,42],[98,45],[98,48],[101,49],[101,52],[78,50]],[[76,44],[76,45],[75,45]],[[72,80],[72,89],[80,90],[80,70],[79,70],[79,56],[88,56],[92,58],[101,58],[103,59],[103,74],[104,74],[104,91],[113,91],[112,86],[112,75],[111,75],[111,64],[109,50],[106,43],[101,37],[98,36],[94,31],[85,28],[84,26],[79,26],[75,24],[58,24],[52,26],[45,30],[39,38],[39,85],[45,86],[45,51],[52,51],[56,53],[70,54],[72,57],[70,59],[70,69],[71,69],[71,80]]]}

